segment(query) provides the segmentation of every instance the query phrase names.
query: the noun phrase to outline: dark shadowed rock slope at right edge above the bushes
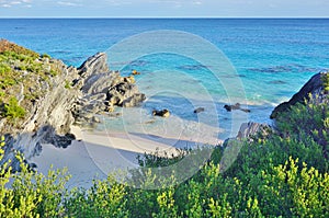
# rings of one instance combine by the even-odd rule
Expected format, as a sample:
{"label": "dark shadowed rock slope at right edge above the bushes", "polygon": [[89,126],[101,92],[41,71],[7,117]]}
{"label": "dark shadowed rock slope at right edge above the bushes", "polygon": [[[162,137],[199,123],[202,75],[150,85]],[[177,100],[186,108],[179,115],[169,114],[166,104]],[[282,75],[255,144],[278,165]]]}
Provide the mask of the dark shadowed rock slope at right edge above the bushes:
{"label": "dark shadowed rock slope at right edge above the bushes", "polygon": [[310,80],[288,101],[280,104],[274,108],[271,114],[271,118],[276,118],[281,113],[290,110],[291,106],[296,103],[304,103],[305,100],[309,100],[309,97],[317,97],[317,101],[324,102],[328,101],[328,93],[325,92],[324,87],[324,77],[327,76],[328,72],[320,72],[310,78]]}

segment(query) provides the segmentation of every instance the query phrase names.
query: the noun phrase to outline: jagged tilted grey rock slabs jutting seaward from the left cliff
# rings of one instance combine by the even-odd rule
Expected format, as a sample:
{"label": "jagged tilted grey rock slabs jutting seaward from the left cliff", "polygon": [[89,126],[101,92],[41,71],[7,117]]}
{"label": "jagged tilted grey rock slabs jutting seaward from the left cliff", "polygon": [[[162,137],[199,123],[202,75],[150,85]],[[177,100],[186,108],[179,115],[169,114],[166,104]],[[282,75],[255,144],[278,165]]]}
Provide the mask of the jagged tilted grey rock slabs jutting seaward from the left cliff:
{"label": "jagged tilted grey rock slabs jutting seaward from the left cliff", "polygon": [[83,97],[75,105],[73,116],[80,126],[93,126],[99,121],[97,114],[114,112],[114,106],[137,106],[146,99],[133,76],[122,77],[118,71],[110,71],[106,60],[106,54],[99,53],[78,68],[81,78],[77,83]]}

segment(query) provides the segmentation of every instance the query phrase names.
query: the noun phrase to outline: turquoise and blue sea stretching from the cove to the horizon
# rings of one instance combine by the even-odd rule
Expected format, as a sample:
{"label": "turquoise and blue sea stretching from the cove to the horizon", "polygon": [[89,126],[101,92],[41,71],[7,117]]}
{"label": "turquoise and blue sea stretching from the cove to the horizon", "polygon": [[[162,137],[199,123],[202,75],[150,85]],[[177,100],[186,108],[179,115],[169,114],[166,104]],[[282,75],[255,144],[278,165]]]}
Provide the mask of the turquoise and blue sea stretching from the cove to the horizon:
{"label": "turquoise and blue sea stretching from the cove to the horizon", "polygon": [[[175,35],[177,32],[173,32],[172,41],[150,35],[147,41],[135,42],[125,48],[125,53],[131,49],[132,54],[148,50],[128,62],[121,62],[121,56],[111,53],[113,46],[127,37],[161,30],[191,34],[191,41],[189,37],[179,41],[174,37],[181,37]],[[228,76],[236,77],[242,90],[240,84],[235,85],[234,80],[229,87],[223,84],[226,81],[225,73],[220,71],[220,67],[226,65],[223,57],[218,57],[216,64],[211,51],[198,48],[201,44],[194,36],[222,50],[223,57],[227,58],[225,61],[236,70]],[[207,112],[215,105],[216,117],[224,129],[219,138],[224,138],[229,136],[234,115],[225,112],[223,105],[238,101],[234,97],[229,101],[227,89],[232,95],[235,91],[243,92],[246,101],[242,97],[241,103],[251,110],[248,121],[269,122],[268,117],[276,104],[288,100],[313,74],[329,69],[329,20],[326,19],[1,19],[0,37],[76,67],[89,56],[110,49],[109,55],[115,59],[115,62],[110,61],[110,68],[121,70],[123,74],[128,74],[132,69],[140,71],[137,83],[139,90],[148,95],[148,101],[141,105],[144,111],[138,113],[145,118],[139,118],[139,122],[125,119],[127,123],[122,128],[126,130],[143,119],[149,124],[149,129],[143,126],[143,130],[151,131],[158,121],[148,122],[152,119],[148,116],[149,112],[166,107],[172,112],[173,118],[179,119],[173,123],[180,127],[172,127],[177,133],[184,126],[191,126],[182,121],[191,123],[202,118],[200,116],[203,115],[192,113],[194,107],[203,106]],[[159,42],[172,44],[181,50],[149,51]],[[184,49],[192,49],[198,59],[208,58],[211,64],[206,66],[194,56],[184,56]],[[212,74],[216,70],[219,79]],[[205,115],[209,115],[206,112]],[[214,127],[207,116],[203,119],[203,124]],[[158,124],[166,130],[162,122]],[[113,122],[111,126],[117,128]],[[135,126],[128,130],[134,129]]]}

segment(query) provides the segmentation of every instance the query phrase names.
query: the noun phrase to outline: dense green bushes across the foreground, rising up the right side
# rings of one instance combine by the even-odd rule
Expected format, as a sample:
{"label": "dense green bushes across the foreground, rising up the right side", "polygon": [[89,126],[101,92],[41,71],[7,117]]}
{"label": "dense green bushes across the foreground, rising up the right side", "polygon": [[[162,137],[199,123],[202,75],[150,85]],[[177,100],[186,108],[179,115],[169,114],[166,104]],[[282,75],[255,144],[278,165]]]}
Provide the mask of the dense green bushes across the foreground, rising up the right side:
{"label": "dense green bushes across the foreground, rising up the right side", "polygon": [[[44,176],[22,164],[22,172],[12,174],[3,165],[0,217],[329,217],[329,108],[313,101],[282,114],[277,131],[235,141],[241,150],[225,172],[219,163],[226,148],[217,147],[209,161],[181,184],[146,170],[131,177],[146,175],[145,188],[109,175],[90,190],[68,191],[65,171],[50,170]],[[183,158],[148,154],[139,161],[163,167]],[[148,190],[155,182],[166,187]]]}

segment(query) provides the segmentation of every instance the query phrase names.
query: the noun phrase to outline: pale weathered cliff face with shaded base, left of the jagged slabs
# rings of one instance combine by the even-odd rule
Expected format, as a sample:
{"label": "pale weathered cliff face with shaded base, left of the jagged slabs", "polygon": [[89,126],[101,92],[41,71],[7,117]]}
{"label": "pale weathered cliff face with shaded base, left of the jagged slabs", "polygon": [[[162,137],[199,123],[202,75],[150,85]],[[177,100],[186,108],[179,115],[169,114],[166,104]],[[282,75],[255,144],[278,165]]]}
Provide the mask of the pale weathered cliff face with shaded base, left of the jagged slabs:
{"label": "pale weathered cliff face with shaded base, left of the jagged slabs", "polygon": [[[20,125],[13,126],[7,118],[1,119],[0,133],[5,134],[7,139],[5,153],[0,164],[11,160],[14,171],[20,169],[20,163],[15,159],[18,151],[29,160],[41,152],[42,144],[53,144],[64,148],[71,144],[70,126],[75,121],[71,108],[80,92],[73,88],[67,89],[65,83],[79,76],[76,69],[65,66],[61,61],[52,61],[60,69],[60,76],[50,78],[47,83],[35,80],[36,84],[41,83],[38,91],[44,94],[38,95],[33,100],[33,104],[26,106],[25,118],[20,122]],[[22,96],[26,97],[24,93]],[[21,101],[23,102],[24,99]]]}

